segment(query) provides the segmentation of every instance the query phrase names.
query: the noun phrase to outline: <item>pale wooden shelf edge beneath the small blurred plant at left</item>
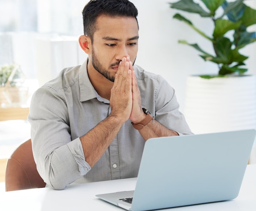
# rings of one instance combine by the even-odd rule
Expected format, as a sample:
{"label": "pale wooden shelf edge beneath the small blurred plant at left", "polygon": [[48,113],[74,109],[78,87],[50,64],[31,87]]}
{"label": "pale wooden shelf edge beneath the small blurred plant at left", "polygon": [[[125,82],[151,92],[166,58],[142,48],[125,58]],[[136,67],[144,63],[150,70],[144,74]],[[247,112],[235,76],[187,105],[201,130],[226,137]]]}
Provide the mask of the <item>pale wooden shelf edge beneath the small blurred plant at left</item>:
{"label": "pale wooden shelf edge beneath the small blurred plant at left", "polygon": [[15,119],[27,119],[29,114],[29,107],[0,107],[0,121],[15,120]]}

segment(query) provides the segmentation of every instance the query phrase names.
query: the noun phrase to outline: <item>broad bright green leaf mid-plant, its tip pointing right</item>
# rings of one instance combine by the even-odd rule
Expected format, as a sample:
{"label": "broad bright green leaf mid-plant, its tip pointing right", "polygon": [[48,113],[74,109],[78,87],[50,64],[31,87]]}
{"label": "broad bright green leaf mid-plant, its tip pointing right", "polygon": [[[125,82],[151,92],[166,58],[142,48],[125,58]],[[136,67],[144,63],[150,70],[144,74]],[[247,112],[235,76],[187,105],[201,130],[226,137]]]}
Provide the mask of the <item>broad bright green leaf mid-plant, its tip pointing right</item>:
{"label": "broad bright green leaf mid-plant, its tip pointing right", "polygon": [[218,38],[223,36],[229,30],[237,29],[241,25],[241,21],[232,22],[225,19],[217,19],[215,23],[215,28],[213,31],[213,37]]}

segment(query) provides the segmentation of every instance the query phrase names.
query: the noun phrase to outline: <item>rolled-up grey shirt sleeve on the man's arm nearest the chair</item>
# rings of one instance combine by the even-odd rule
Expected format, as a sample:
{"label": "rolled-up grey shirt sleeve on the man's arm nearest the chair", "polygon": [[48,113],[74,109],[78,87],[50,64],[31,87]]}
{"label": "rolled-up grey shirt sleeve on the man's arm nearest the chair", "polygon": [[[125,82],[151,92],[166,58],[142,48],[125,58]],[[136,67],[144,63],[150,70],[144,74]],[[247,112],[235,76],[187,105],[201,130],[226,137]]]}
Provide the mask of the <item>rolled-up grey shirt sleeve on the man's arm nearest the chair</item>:
{"label": "rolled-up grey shirt sleeve on the man's arm nearest the chair", "polygon": [[38,173],[54,189],[65,187],[90,171],[79,137],[71,140],[69,114],[61,91],[39,88],[31,100],[28,121]]}

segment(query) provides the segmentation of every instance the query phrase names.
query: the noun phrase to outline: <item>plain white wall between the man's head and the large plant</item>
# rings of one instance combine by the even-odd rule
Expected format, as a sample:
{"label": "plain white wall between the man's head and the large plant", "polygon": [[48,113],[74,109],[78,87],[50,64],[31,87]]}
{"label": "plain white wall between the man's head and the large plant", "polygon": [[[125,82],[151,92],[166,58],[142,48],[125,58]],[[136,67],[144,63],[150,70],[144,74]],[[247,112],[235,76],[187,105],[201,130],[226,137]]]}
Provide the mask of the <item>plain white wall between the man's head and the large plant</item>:
{"label": "plain white wall between the man's head and the large plant", "polygon": [[[139,11],[139,52],[136,64],[147,71],[164,76],[175,88],[180,110],[183,112],[186,76],[217,73],[218,70],[215,64],[204,62],[195,49],[178,44],[177,40],[185,39],[189,43],[198,43],[204,49],[209,48],[209,51],[211,45],[189,26],[172,18],[180,11],[171,9],[168,2],[176,2],[176,0],[131,0],[131,2]],[[256,1],[247,1],[247,3],[256,8]],[[200,18],[190,13],[183,15],[209,36],[212,34],[213,26],[207,18]],[[247,60],[248,74],[256,74],[256,43],[246,47],[243,52],[250,56]]]}

